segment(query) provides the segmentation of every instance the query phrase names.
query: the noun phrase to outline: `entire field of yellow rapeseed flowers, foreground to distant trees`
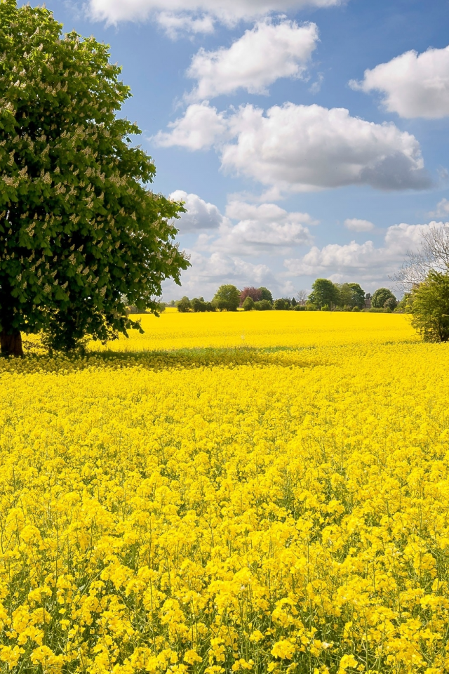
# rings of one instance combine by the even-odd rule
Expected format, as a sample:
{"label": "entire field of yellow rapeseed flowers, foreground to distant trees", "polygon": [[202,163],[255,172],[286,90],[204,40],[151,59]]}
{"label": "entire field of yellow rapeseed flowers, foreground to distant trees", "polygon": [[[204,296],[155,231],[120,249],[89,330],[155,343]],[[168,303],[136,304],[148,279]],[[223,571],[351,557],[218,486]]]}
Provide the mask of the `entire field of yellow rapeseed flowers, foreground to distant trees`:
{"label": "entire field of yellow rapeseed flowers, foreground to distant trees", "polygon": [[1,672],[447,671],[448,346],[396,315],[142,324],[0,360]]}

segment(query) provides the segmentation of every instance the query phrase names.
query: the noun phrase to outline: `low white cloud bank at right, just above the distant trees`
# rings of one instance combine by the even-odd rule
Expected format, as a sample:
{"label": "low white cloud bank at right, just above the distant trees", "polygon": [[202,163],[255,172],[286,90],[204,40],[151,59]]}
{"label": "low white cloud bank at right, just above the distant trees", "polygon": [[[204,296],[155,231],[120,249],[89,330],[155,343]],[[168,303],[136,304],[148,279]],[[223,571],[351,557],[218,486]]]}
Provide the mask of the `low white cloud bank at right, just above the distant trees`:
{"label": "low white cloud bank at right, just above the distant trees", "polygon": [[285,266],[290,274],[324,275],[334,279],[360,278],[363,280],[388,279],[401,266],[407,251],[417,250],[422,241],[422,233],[429,225],[393,225],[385,234],[384,245],[376,248],[372,241],[357,244],[328,244],[319,249],[313,246],[302,258],[289,258]]}

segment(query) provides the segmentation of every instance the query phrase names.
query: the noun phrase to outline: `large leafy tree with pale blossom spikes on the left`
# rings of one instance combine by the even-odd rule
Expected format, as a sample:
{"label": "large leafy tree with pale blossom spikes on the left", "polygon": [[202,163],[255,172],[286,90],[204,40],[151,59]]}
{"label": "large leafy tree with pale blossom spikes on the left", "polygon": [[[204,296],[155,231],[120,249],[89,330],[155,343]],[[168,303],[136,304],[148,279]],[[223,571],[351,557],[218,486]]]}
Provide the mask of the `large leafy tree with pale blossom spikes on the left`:
{"label": "large leafy tree with pale blossom spikes on the left", "polygon": [[44,329],[55,348],[137,326],[163,279],[189,266],[183,211],[148,190],[155,167],[116,112],[130,90],[93,37],[62,34],[45,8],[0,4],[0,332]]}

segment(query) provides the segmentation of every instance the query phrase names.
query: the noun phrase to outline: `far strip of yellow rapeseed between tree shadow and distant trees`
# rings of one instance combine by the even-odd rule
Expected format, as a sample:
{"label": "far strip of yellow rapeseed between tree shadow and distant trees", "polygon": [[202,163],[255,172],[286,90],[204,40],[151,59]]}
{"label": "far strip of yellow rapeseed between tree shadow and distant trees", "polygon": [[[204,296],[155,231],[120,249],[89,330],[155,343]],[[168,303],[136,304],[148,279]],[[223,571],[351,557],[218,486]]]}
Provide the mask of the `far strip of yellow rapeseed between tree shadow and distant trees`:
{"label": "far strip of yellow rapeseed between tree shadow and distant trees", "polygon": [[[166,310],[161,317],[142,315],[145,334],[130,332],[110,342],[112,351],[147,351],[237,346],[304,347],[416,340],[406,315],[351,312],[213,312],[180,314]],[[93,343],[95,350],[105,348]]]}

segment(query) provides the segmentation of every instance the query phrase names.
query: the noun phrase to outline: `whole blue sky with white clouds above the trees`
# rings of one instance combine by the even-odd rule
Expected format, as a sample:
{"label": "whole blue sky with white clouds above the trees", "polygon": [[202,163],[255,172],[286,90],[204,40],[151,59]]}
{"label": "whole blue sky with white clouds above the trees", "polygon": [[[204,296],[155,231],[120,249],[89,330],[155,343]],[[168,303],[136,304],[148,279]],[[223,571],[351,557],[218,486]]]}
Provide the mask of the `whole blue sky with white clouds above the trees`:
{"label": "whole blue sky with white clouds above the trees", "polygon": [[110,45],[153,189],[184,201],[191,267],[220,284],[387,286],[449,220],[449,0],[47,0]]}

